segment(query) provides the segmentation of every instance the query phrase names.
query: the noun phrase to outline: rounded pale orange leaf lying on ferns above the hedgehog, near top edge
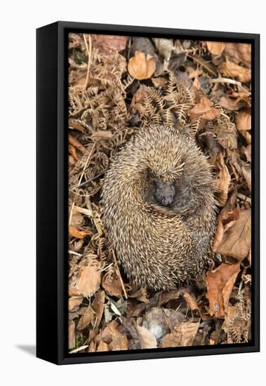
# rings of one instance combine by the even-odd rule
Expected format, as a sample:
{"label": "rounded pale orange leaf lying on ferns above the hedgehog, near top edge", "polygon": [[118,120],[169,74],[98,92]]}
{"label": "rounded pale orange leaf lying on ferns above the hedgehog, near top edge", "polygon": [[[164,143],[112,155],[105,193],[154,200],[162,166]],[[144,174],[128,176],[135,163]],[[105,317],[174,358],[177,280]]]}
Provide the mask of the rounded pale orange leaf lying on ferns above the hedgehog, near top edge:
{"label": "rounded pale orange leaf lying on ferns above the hedgehog, near top edge", "polygon": [[149,79],[155,69],[155,58],[141,51],[135,51],[135,55],[128,61],[128,72],[135,79]]}

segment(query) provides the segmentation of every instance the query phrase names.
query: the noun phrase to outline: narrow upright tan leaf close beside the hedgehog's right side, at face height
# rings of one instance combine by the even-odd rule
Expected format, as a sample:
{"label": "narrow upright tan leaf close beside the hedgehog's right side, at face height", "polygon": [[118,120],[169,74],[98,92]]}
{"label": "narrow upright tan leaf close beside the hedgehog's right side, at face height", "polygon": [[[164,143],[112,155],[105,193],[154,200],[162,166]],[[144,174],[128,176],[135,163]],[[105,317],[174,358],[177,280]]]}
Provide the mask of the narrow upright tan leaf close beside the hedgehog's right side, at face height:
{"label": "narrow upright tan leaf close beside the hedgehog's right side, at face height", "polygon": [[228,188],[230,185],[231,177],[228,171],[227,166],[225,165],[225,159],[222,153],[219,153],[217,156],[217,195],[216,201],[218,206],[225,206],[228,197]]}

